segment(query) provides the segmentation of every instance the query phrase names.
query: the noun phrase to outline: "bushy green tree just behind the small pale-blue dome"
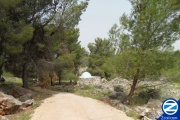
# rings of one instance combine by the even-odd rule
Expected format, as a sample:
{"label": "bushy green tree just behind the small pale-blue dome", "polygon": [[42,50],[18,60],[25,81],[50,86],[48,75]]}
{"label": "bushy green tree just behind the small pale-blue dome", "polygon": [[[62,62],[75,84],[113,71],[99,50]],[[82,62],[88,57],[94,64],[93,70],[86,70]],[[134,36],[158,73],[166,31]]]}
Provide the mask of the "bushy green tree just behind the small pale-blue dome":
{"label": "bushy green tree just behind the small pale-blue dome", "polygon": [[95,43],[88,45],[90,50],[88,71],[92,75],[109,77],[103,69],[104,63],[114,55],[114,49],[109,40],[97,38]]}

